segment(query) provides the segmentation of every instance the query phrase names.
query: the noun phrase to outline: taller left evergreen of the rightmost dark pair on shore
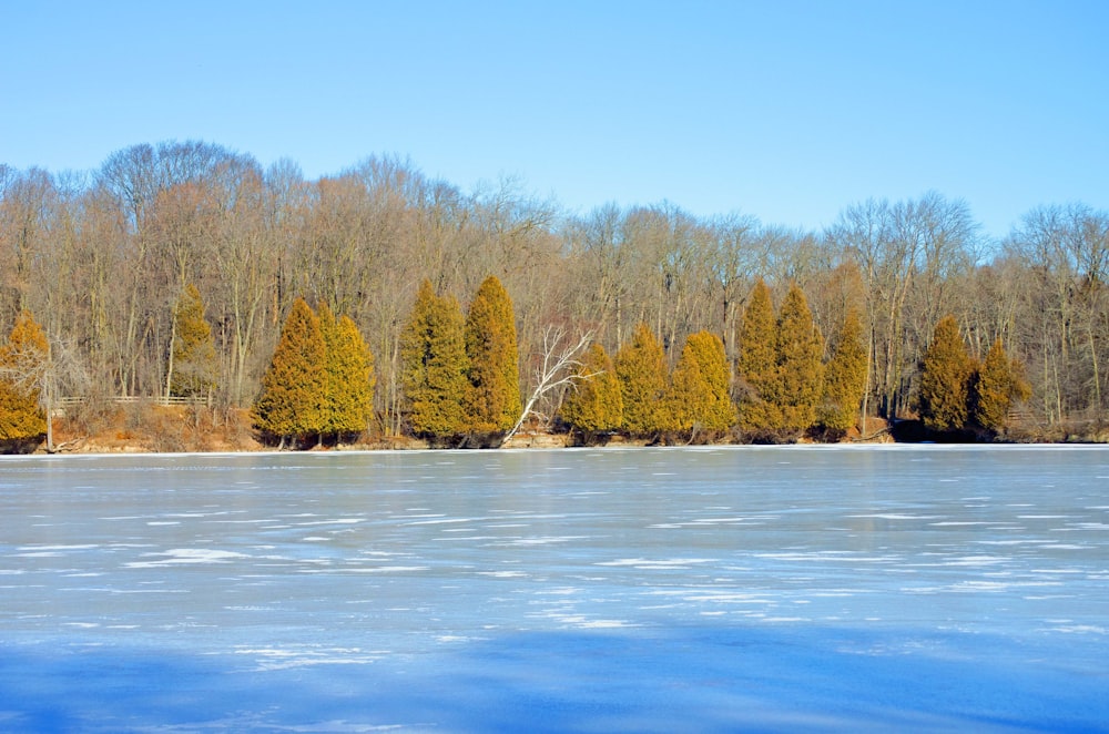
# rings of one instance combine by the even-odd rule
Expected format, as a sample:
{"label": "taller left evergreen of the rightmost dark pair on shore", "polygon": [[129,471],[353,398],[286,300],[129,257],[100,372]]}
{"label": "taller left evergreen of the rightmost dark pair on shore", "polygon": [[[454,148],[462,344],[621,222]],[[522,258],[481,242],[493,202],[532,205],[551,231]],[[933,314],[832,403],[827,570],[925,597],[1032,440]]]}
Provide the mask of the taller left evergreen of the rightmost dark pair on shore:
{"label": "taller left evergreen of the rightmost dark pair on shore", "polygon": [[924,353],[920,373],[920,417],[925,427],[936,431],[966,428],[974,369],[955,317],[943,317]]}

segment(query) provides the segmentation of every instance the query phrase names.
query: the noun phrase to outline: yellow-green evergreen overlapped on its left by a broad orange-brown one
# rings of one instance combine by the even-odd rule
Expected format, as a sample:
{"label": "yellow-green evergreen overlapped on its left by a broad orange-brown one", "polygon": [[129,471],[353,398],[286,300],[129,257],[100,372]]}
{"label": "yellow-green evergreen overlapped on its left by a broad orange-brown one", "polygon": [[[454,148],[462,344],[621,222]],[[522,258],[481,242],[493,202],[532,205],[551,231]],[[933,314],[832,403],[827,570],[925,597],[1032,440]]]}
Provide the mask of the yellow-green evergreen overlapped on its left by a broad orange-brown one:
{"label": "yellow-green evergreen overlapped on its left by a broad orange-brown one", "polygon": [[374,412],[374,355],[349,316],[335,320],[326,303],[317,310],[327,348],[324,432],[362,434]]}

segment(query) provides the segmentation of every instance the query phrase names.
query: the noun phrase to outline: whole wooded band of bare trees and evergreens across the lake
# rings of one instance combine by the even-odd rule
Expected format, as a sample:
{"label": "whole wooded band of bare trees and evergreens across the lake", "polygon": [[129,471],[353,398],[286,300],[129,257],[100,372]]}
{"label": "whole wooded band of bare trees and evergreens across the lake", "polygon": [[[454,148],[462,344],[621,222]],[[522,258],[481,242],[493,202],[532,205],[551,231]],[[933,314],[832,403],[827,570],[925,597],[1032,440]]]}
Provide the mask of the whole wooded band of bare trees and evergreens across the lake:
{"label": "whole wooded band of bare trees and evergreens across the lake", "polygon": [[[862,416],[1093,436],[1109,390],[1107,268],[1109,213],[1078,203],[1046,203],[1000,242],[934,192],[846,203],[804,232],[669,203],[567,213],[511,181],[466,193],[390,157],[308,181],[291,161],[144,144],[88,173],[0,165],[0,336],[12,335],[0,404],[12,390],[87,406],[192,396],[252,409],[282,442],[357,434],[360,420],[369,435],[457,441],[525,415],[586,440],[835,437]],[[489,326],[506,313],[480,295],[491,281],[510,336]],[[344,398],[360,401],[348,422],[266,424],[298,308],[324,322],[317,358],[366,376],[369,393]],[[17,358],[31,315],[38,371]],[[446,397],[413,373],[435,367],[428,340],[444,329],[460,339],[444,347],[460,355]],[[510,367],[489,361],[509,348]],[[340,368],[321,369],[311,379],[326,391]],[[644,379],[638,405],[629,386]],[[692,396],[713,397],[682,415]],[[642,414],[660,405],[667,415]],[[0,428],[14,410],[0,407]]]}

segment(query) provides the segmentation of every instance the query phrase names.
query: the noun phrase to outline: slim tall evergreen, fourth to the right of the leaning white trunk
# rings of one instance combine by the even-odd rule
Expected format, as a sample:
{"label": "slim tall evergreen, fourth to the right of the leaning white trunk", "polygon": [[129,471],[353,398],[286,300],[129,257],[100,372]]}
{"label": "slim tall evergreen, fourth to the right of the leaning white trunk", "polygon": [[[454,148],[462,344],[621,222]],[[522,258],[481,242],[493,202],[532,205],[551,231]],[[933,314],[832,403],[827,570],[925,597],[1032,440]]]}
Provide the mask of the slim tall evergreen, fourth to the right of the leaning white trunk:
{"label": "slim tall evergreen, fourth to the right of the leaning white trunk", "polygon": [[774,402],[777,383],[777,326],[770,288],[755,283],[740,324],[736,373],[741,386],[740,426],[752,432],[774,431],[782,417]]}

